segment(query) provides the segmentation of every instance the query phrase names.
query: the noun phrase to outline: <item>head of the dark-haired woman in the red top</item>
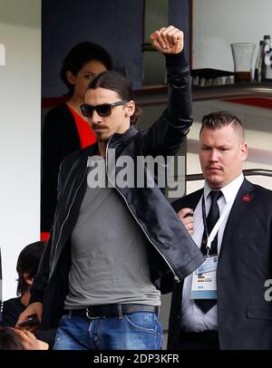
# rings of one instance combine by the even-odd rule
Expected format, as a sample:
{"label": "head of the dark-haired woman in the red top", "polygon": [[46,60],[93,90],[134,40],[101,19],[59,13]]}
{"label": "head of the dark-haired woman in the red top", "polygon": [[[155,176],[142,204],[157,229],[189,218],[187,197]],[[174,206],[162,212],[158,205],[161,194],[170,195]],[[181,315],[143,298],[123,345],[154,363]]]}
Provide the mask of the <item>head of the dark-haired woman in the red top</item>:
{"label": "head of the dark-haired woman in the red top", "polygon": [[68,87],[68,95],[76,93],[83,100],[89,82],[106,70],[112,70],[110,53],[99,44],[84,42],[73,46],[65,56],[61,78]]}

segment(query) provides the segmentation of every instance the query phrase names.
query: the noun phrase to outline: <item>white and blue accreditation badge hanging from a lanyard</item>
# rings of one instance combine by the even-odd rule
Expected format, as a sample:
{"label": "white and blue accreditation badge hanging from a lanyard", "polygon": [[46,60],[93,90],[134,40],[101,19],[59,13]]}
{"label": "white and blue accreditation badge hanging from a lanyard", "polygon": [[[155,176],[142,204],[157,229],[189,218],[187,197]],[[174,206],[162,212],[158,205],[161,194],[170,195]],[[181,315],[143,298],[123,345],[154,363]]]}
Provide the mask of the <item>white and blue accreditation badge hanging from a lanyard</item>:
{"label": "white and blue accreditation badge hanging from a lanyard", "polygon": [[190,299],[217,299],[218,256],[207,257],[194,271]]}

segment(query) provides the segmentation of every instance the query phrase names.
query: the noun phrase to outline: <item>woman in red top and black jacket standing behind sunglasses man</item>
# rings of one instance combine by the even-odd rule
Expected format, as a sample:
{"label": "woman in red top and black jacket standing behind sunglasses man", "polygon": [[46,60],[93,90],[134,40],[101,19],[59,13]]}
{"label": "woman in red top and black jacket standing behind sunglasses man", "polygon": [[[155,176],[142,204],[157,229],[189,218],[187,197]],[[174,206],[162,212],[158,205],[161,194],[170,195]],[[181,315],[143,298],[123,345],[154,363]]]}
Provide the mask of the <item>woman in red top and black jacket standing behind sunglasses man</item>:
{"label": "woman in red top and black jacket standing behind sunglasses man", "polygon": [[63,60],[61,78],[68,101],[44,118],[42,136],[41,239],[49,237],[57,202],[57,178],[64,157],[94,143],[96,138],[80,105],[87,86],[98,74],[112,69],[110,54],[98,44],[76,44]]}

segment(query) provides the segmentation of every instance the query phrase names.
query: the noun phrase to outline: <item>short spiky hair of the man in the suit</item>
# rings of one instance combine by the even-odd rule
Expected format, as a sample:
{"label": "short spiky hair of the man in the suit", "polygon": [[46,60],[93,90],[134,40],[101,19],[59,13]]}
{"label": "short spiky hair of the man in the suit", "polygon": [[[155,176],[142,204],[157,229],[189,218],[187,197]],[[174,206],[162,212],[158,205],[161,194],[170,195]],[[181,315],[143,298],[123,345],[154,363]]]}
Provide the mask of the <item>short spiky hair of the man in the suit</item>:
{"label": "short spiky hair of the man in the suit", "polygon": [[204,115],[199,136],[204,128],[215,131],[216,129],[220,129],[228,125],[231,125],[234,130],[239,131],[241,136],[244,138],[244,127],[242,122],[237,116],[228,111],[217,111]]}

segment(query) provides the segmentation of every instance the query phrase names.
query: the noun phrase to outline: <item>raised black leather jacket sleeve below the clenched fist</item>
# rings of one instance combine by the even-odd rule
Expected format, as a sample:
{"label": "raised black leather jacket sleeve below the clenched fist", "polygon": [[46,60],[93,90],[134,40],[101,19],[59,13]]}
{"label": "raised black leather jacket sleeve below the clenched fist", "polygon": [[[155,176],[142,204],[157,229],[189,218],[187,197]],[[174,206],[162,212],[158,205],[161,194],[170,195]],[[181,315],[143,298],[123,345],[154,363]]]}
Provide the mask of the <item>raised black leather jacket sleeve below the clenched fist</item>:
{"label": "raised black leather jacket sleeve below the clenched fist", "polygon": [[143,136],[145,155],[175,155],[193,121],[189,65],[184,52],[165,54],[165,58],[169,83],[168,106]]}

